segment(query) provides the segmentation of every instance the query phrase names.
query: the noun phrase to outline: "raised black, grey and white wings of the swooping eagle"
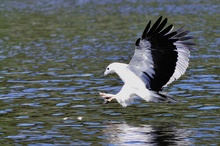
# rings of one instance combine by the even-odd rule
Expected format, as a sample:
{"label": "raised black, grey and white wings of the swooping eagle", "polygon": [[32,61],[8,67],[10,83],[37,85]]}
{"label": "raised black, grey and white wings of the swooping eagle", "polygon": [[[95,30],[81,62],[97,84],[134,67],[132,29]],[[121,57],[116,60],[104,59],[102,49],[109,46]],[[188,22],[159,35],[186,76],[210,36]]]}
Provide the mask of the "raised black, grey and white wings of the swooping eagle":
{"label": "raised black, grey and white wings of the swooping eagle", "polygon": [[151,26],[147,24],[142,37],[137,39],[129,69],[139,76],[150,90],[161,91],[185,73],[188,67],[192,36],[183,28],[172,31],[165,27],[162,16]]}

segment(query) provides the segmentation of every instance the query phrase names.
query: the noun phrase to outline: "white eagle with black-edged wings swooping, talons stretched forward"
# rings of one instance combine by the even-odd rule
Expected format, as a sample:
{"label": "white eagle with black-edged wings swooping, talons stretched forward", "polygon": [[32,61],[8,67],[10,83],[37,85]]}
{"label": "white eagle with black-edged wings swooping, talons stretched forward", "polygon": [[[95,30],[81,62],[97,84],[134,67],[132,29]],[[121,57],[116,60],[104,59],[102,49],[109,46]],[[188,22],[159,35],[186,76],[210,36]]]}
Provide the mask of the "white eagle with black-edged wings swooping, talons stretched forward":
{"label": "white eagle with black-edged wings swooping, talons stretched forward", "polygon": [[[190,31],[180,28],[173,31],[162,16],[151,27],[147,24],[138,38],[129,64],[114,62],[107,66],[104,75],[116,73],[124,82],[117,94],[99,93],[109,103],[116,99],[123,107],[131,105],[134,97],[148,102],[176,102],[162,92],[163,88],[183,75],[189,65],[190,49],[195,45]],[[165,27],[166,26],[166,27]]]}

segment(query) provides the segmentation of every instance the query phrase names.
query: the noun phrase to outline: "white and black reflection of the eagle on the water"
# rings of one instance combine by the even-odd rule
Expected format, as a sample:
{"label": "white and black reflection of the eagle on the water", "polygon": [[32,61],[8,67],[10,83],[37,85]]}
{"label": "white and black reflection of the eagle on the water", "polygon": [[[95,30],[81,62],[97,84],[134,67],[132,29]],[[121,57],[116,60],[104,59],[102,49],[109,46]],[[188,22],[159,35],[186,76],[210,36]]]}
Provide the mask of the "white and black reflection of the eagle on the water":
{"label": "white and black reflection of the eagle on the water", "polygon": [[113,145],[190,145],[190,130],[172,126],[110,124],[103,129],[104,135]]}

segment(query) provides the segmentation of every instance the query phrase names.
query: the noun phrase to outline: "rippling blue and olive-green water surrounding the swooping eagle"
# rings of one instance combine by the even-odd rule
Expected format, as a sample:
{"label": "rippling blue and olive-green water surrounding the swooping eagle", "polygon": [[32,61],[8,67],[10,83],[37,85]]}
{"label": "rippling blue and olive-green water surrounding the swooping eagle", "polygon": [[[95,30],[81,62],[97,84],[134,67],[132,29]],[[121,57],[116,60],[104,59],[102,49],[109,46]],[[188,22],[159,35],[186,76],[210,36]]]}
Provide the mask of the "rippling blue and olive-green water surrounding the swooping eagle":
{"label": "rippling blue and olive-green water surrounding the swooping eagle", "polygon": [[[0,143],[4,145],[218,145],[218,1],[3,0]],[[103,77],[129,62],[146,22],[163,15],[195,36],[186,74],[165,89],[176,104],[103,104]]]}

